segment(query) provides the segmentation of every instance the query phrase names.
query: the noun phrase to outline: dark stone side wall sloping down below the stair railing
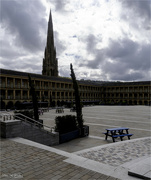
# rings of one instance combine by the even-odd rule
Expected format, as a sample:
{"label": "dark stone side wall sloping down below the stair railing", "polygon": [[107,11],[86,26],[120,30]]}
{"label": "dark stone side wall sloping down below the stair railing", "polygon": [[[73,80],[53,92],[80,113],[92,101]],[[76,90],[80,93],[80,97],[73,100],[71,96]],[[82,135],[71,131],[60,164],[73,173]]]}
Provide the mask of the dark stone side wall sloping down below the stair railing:
{"label": "dark stone side wall sloping down below the stair railing", "polygon": [[0,122],[1,137],[22,137],[44,145],[52,146],[59,144],[59,134],[48,132],[28,122],[20,120],[7,120]]}

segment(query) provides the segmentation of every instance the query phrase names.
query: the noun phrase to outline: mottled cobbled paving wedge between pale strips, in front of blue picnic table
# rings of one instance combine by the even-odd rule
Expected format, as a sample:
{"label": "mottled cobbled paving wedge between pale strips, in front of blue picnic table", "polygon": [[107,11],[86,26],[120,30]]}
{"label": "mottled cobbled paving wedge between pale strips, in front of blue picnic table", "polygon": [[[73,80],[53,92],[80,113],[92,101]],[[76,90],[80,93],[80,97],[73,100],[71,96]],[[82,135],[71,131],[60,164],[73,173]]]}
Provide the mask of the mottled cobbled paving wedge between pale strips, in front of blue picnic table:
{"label": "mottled cobbled paving wedge between pale strips, in front of blue picnic table", "polygon": [[151,138],[113,143],[112,146],[100,146],[76,154],[115,167],[139,157],[150,156]]}

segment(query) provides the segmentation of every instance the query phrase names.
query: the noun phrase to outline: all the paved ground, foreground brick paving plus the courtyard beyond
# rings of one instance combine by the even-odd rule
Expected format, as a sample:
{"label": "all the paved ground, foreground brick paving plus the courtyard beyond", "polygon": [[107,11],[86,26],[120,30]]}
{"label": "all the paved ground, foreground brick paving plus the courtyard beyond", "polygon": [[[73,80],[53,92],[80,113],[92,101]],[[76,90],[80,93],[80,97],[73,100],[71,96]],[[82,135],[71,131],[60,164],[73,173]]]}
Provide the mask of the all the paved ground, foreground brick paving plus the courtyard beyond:
{"label": "all the paved ground, foreground brick paving plus the courtyard beyond", "polygon": [[[65,114],[75,112],[64,109],[56,114],[52,109],[40,119],[53,127],[55,117]],[[88,137],[53,147],[22,138],[2,139],[0,179],[150,179],[150,115],[149,106],[88,106],[83,108],[84,123],[90,127]],[[131,140],[106,141],[102,133],[114,127],[128,127],[134,135]]]}

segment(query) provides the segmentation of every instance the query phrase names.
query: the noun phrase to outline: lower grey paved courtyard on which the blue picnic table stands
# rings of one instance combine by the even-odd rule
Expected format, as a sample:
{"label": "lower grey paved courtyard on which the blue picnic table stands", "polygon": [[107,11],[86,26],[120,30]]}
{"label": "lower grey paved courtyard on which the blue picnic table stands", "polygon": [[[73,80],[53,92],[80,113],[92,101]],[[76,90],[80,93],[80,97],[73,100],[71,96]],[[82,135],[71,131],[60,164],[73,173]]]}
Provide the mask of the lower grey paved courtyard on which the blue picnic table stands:
{"label": "lower grey paved courtyard on which the blue picnic table stands", "polygon": [[[66,114],[76,113],[64,109],[64,113],[58,114],[52,109],[40,118],[44,120],[44,124],[53,127],[55,117]],[[110,137],[105,141],[103,132],[106,128],[128,127],[129,133],[134,134],[131,139],[151,136],[151,107],[149,106],[88,106],[83,108],[83,119],[84,124],[90,128],[89,137],[75,139],[55,148],[74,152],[113,143]],[[127,140],[127,137],[123,140]]]}

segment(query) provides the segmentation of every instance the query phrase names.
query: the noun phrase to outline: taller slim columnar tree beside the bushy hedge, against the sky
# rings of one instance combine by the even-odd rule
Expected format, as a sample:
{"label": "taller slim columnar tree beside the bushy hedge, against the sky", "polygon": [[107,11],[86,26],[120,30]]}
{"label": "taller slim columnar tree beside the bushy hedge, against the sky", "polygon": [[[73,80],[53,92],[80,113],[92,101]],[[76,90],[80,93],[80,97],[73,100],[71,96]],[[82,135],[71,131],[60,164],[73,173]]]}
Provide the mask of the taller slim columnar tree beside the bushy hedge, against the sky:
{"label": "taller slim columnar tree beside the bushy hedge, against the sky", "polygon": [[79,95],[79,87],[78,87],[78,83],[74,74],[72,64],[70,64],[70,69],[71,69],[71,78],[72,78],[73,88],[74,88],[74,93],[75,93],[77,121],[78,121],[79,128],[83,128],[83,115],[82,115],[82,106],[81,106],[80,95]]}

